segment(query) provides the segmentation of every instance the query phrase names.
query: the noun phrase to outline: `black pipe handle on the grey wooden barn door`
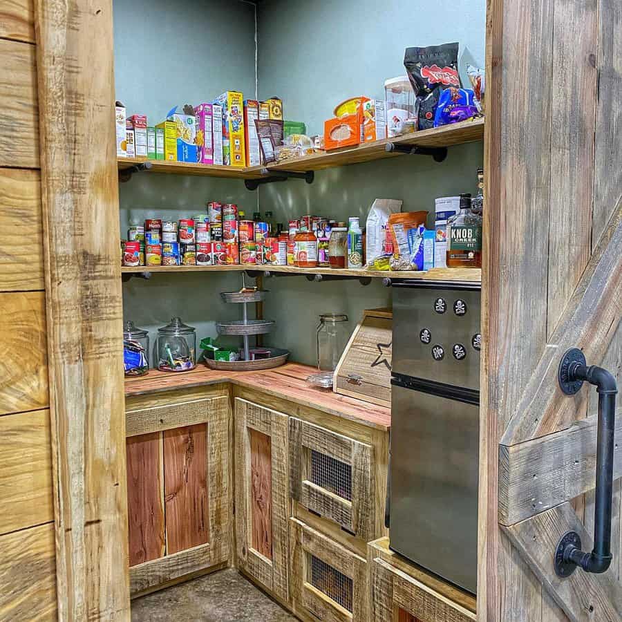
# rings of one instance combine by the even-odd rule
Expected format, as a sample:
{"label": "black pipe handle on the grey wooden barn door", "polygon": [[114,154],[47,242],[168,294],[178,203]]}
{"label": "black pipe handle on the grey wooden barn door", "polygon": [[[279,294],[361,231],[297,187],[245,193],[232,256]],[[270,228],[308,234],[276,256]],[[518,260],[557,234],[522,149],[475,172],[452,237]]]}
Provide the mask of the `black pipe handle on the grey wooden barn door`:
{"label": "black pipe handle on the grey wooden barn door", "polygon": [[581,550],[576,531],[567,531],[555,552],[555,572],[570,576],[577,566],[585,572],[605,572],[611,564],[611,506],[613,488],[614,434],[616,427],[616,379],[606,369],[587,367],[583,352],[568,350],[562,357],[558,381],[563,393],[574,395],[587,380],[599,394],[599,421],[596,440],[596,491],[594,492],[594,549]]}

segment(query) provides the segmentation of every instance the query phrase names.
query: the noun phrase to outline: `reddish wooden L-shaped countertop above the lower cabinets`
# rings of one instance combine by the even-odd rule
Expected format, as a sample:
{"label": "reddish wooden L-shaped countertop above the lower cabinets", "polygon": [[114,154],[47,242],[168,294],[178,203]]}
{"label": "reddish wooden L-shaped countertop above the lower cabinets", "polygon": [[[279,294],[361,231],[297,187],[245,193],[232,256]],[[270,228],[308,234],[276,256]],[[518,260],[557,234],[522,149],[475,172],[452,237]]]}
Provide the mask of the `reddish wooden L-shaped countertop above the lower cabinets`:
{"label": "reddish wooden L-shaped countertop above the lower cabinets", "polygon": [[315,368],[299,363],[288,363],[275,369],[253,372],[215,371],[199,363],[194,370],[185,373],[161,372],[152,369],[146,376],[127,378],[125,395],[132,397],[159,391],[231,382],[373,428],[380,430],[390,428],[390,408],[338,395],[329,390],[313,388],[305,382],[305,379],[315,372]]}

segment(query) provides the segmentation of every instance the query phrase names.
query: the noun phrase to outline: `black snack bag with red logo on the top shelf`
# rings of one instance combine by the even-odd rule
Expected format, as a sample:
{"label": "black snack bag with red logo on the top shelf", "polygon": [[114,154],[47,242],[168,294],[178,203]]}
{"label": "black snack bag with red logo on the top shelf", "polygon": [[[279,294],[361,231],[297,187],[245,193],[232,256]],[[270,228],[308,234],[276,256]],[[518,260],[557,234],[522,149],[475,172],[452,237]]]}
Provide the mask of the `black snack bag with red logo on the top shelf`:
{"label": "black snack bag with red logo on the top shelf", "polygon": [[406,48],[404,67],[417,96],[418,129],[429,129],[434,126],[440,91],[449,86],[460,87],[458,43]]}

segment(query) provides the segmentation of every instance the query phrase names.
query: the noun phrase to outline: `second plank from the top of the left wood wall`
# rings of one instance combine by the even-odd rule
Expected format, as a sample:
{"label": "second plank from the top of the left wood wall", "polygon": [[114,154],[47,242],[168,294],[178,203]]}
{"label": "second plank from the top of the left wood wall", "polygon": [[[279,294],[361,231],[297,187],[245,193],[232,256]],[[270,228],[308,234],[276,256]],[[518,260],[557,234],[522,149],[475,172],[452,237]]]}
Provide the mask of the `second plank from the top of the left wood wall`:
{"label": "second plank from the top of the left wood wall", "polygon": [[39,168],[35,46],[0,39],[0,167]]}

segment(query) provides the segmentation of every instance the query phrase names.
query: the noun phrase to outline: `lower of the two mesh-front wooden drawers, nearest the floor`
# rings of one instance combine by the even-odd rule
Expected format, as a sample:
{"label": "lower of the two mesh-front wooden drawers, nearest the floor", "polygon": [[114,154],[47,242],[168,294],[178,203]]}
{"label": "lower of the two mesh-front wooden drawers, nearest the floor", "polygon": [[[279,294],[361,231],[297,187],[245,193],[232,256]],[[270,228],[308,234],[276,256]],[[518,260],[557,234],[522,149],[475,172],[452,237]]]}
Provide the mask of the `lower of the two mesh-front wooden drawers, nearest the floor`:
{"label": "lower of the two mesh-front wooden drawers, nearest the floor", "polygon": [[368,620],[367,562],[296,518],[290,519],[294,611],[324,622]]}

